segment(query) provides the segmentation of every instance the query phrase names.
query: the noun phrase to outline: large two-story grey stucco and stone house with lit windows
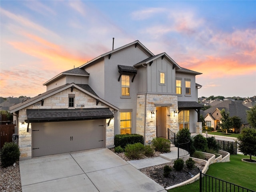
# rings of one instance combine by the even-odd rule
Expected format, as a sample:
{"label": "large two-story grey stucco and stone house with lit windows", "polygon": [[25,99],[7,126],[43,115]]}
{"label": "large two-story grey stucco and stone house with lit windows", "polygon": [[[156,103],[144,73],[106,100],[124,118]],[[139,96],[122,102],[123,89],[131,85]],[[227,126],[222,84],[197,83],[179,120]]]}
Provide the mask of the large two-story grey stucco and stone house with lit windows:
{"label": "large two-story grey stucco and stone house with lit windows", "polygon": [[168,130],[202,132],[196,75],[138,40],[62,72],[46,92],[10,108],[21,159],[114,146],[116,134],[147,144]]}

